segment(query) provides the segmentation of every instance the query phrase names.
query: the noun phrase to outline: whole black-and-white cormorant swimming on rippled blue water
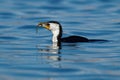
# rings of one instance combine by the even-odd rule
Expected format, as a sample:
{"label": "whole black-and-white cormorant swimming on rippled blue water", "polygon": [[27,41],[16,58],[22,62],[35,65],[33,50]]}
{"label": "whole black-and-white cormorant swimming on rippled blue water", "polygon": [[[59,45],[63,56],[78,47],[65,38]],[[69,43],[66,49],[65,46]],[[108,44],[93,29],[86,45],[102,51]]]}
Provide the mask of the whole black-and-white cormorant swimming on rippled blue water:
{"label": "whole black-and-white cormorant swimming on rippled blue water", "polygon": [[57,21],[48,21],[48,22],[40,22],[38,24],[39,27],[44,27],[50,30],[53,34],[52,42],[61,44],[61,42],[75,43],[75,42],[96,42],[96,41],[107,41],[101,39],[88,39],[82,36],[69,36],[62,38],[62,26]]}

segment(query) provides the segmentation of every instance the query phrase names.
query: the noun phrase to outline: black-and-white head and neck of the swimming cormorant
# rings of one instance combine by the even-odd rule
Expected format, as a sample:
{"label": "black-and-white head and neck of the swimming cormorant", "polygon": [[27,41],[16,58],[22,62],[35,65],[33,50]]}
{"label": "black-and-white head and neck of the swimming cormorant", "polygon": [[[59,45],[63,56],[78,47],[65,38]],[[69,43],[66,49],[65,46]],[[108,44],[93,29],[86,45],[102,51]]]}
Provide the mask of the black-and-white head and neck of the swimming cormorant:
{"label": "black-and-white head and neck of the swimming cormorant", "polygon": [[57,46],[61,45],[61,37],[62,37],[62,26],[57,21],[48,21],[48,22],[40,22],[38,23],[38,27],[43,27],[47,30],[50,30],[53,33],[52,41],[53,43],[57,43]]}

